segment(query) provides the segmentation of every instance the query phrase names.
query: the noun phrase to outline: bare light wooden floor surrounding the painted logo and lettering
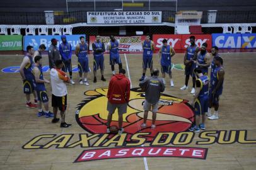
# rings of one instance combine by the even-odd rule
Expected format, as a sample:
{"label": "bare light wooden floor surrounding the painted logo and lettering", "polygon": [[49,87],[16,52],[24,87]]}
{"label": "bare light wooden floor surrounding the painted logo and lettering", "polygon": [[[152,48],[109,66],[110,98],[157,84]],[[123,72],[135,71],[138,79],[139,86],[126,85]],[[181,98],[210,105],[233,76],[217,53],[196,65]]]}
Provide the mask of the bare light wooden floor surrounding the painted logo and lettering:
{"label": "bare light wooden floor surrounding the painted logo and lettering", "polygon": [[[256,57],[253,53],[221,54],[224,59],[225,79],[224,91],[220,99],[219,120],[206,122],[207,130],[247,130],[247,139],[256,140]],[[91,56],[90,56],[91,57]],[[22,55],[0,55],[0,69],[20,65]],[[180,64],[183,54],[173,58],[174,64]],[[92,68],[93,60],[90,58]],[[132,86],[138,86],[141,77],[141,55],[127,54],[127,62],[131,74]],[[124,55],[122,63],[126,69]],[[48,65],[44,57],[44,65]],[[73,56],[73,65],[76,58]],[[154,67],[159,67],[154,57]],[[94,84],[93,74],[89,76],[90,86],[78,84],[78,72],[74,73],[74,86],[68,86],[66,122],[72,123],[70,128],[60,128],[59,123],[50,123],[49,118],[38,118],[37,109],[25,107],[25,96],[19,73],[0,72],[0,169],[256,169],[256,144],[212,144],[195,145],[194,140],[186,147],[204,147],[208,149],[206,160],[148,157],[128,159],[109,159],[102,161],[73,163],[84,150],[81,147],[72,149],[22,149],[29,140],[42,134],[73,133],[78,140],[78,133],[86,133],[79,127],[75,119],[76,106],[85,98],[84,91],[107,87],[111,76],[108,55],[105,56],[105,77],[107,82]],[[117,65],[116,65],[117,69]],[[148,73],[148,72],[147,72]],[[49,79],[49,72],[44,74]],[[98,79],[100,79],[98,72]],[[166,79],[168,80],[168,79]],[[167,83],[166,94],[191,101],[189,91],[180,91],[184,84],[183,71],[173,69],[174,88]],[[168,81],[167,81],[168,82]],[[50,86],[47,85],[50,96]],[[106,106],[106,104],[103,104]],[[52,110],[52,108],[51,108]],[[145,144],[148,145],[148,144]]]}

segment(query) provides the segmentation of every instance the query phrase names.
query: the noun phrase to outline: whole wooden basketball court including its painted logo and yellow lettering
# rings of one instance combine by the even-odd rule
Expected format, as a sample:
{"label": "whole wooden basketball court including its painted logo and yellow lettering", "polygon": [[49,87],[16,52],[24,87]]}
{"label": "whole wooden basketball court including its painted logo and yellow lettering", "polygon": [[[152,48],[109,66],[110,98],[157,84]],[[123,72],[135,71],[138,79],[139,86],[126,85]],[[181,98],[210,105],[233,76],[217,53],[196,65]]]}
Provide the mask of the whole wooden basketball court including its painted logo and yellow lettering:
{"label": "whole wooden basketball court including its painted logo and yellow lettering", "polygon": [[[82,135],[87,134],[86,137],[91,137],[91,135],[97,134],[97,130],[102,130],[102,132],[105,130],[104,117],[107,116],[105,93],[108,81],[112,76],[108,57],[109,55],[106,54],[106,82],[100,81],[100,72],[97,72],[98,82],[93,83],[93,73],[90,72],[88,76],[90,86],[84,86],[78,82],[78,72],[73,73],[76,84],[67,85],[66,111],[66,122],[71,123],[72,126],[60,128],[59,123],[52,124],[50,118],[38,117],[36,108],[26,108],[19,72],[3,72],[6,67],[19,66],[23,55],[0,56],[0,169],[255,169],[255,53],[221,53],[224,60],[225,77],[223,95],[220,98],[219,106],[220,118],[219,120],[207,120],[206,130],[201,130],[200,133],[178,130],[180,133],[177,134],[180,135],[170,133],[175,132],[175,126],[172,128],[159,126],[156,129],[158,133],[154,133],[153,130],[141,130],[138,121],[140,115],[137,114],[138,111],[134,110],[141,108],[142,97],[136,97],[136,95],[142,93],[134,90],[132,99],[137,99],[137,101],[129,103],[131,113],[135,113],[135,115],[133,114],[134,119],[132,119],[134,126],[131,127],[133,131],[130,132],[131,129],[127,126],[124,134],[150,132],[154,135],[148,142],[144,141],[139,145],[138,140],[135,140],[138,145],[132,146],[131,141],[123,139],[125,135],[115,138],[115,141],[119,142],[113,142],[113,140],[111,142],[111,137],[105,137],[106,134],[101,133],[88,140],[87,146],[86,142],[78,144]],[[154,54],[153,58],[153,67],[160,69],[157,54]],[[122,54],[121,60],[123,67],[127,70],[126,76],[131,79],[132,88],[138,88],[139,78],[142,74],[142,55]],[[76,56],[73,55],[73,67],[76,67],[76,61]],[[163,96],[163,101],[164,103],[173,102],[172,106],[180,104],[181,101],[189,101],[187,103],[189,109],[189,103],[193,97],[190,94],[191,79],[189,81],[190,88],[187,91],[180,91],[185,79],[184,71],[181,70],[183,68],[183,54],[176,54],[172,63],[174,64],[172,72],[175,86],[171,88],[170,81],[166,78],[166,89],[163,93],[166,96]],[[43,57],[43,65],[48,65],[47,55]],[[92,65],[93,57],[90,55],[91,69]],[[115,65],[115,70],[117,70],[117,65]],[[146,75],[149,76],[149,71]],[[50,79],[49,71],[44,72],[44,76]],[[46,87],[49,96],[51,96],[50,85],[47,84]],[[52,110],[51,107],[50,110]],[[89,114],[95,118],[93,113],[100,115],[102,124],[99,123],[100,121],[95,123],[94,120],[91,120],[89,126],[83,122],[81,119],[83,114]],[[160,121],[162,119],[189,123],[194,120],[193,116],[174,118],[167,114],[160,115]],[[128,119],[126,123],[131,123],[131,121]],[[156,141],[156,137],[161,132],[169,132],[169,136],[165,134],[162,136],[163,139]],[[59,139],[57,139],[58,137]],[[153,140],[155,143],[152,142]],[[167,140],[169,142],[166,142]],[[114,159],[86,161],[83,159],[84,157],[81,157],[84,156],[84,150],[122,149],[123,147],[124,149],[155,148],[155,150],[151,150],[151,154],[158,152],[159,147],[162,147],[161,149],[173,149],[173,152],[170,154],[169,150],[169,155],[166,157],[143,157],[144,153],[140,150],[141,155],[137,153],[137,156],[134,157],[131,157],[130,154],[127,158],[120,158],[113,156],[110,150],[103,157]],[[204,150],[204,155],[195,159],[196,157],[189,155],[190,149]],[[195,152],[193,152],[194,156],[202,153]],[[96,159],[100,159],[100,157]]]}

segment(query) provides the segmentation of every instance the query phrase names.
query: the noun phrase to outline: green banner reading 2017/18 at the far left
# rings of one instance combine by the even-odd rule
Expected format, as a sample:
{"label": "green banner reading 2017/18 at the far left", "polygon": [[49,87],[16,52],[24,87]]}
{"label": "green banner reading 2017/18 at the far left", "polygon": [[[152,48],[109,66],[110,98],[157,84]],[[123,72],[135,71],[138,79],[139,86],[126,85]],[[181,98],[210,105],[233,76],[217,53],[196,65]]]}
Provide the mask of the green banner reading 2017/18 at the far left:
{"label": "green banner reading 2017/18 at the far left", "polygon": [[0,35],[0,51],[22,50],[22,35]]}

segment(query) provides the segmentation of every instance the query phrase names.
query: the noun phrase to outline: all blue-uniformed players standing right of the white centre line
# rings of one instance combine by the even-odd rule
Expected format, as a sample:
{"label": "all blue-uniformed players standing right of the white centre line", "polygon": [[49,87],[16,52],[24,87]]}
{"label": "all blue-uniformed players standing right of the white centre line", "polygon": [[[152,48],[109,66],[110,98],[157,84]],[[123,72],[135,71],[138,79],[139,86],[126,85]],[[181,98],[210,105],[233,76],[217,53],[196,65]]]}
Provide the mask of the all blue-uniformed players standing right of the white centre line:
{"label": "all blue-uniformed players standing right of the white centre line", "polygon": [[[149,36],[143,42],[143,76],[139,81],[145,79],[146,69],[153,71],[153,50],[154,43],[149,40]],[[210,120],[216,120],[219,108],[219,96],[223,91],[224,69],[223,59],[218,54],[218,47],[214,46],[211,49],[211,55],[207,54],[207,43],[203,43],[201,49],[195,45],[195,37],[190,37],[191,45],[187,48],[184,56],[185,65],[185,85],[181,90],[188,89],[189,77],[192,77],[193,88],[191,93],[194,94],[192,106],[195,110],[195,125],[190,130],[200,132],[200,129],[205,130],[206,113]],[[167,44],[167,40],[163,40],[163,45],[160,48],[159,58],[161,59],[161,72],[163,82],[165,84],[165,73],[169,74],[170,84],[173,87],[172,80],[172,57],[175,55],[173,48]],[[211,81],[209,81],[208,67],[211,65]],[[196,79],[197,77],[197,79]],[[195,88],[196,86],[196,88]],[[214,106],[214,114],[211,115],[211,107]],[[202,121],[201,121],[202,120]]]}

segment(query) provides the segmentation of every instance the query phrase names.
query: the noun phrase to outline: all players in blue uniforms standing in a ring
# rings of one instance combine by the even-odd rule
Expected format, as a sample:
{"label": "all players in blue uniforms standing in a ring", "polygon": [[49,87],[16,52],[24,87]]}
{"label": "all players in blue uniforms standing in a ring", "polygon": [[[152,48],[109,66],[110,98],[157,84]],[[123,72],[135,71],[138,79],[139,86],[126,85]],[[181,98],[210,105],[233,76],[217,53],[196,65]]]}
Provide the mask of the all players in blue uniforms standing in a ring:
{"label": "all players in blue uniforms standing in a ring", "polygon": [[[88,83],[88,72],[90,72],[89,59],[88,59],[88,43],[85,42],[84,37],[80,37],[80,43],[76,46],[75,54],[78,57],[78,70],[79,70],[79,83],[89,85]],[[52,38],[52,44],[49,47],[49,67],[50,69],[56,69],[57,73],[61,77],[59,81],[70,82],[75,84],[72,79],[72,47],[71,44],[67,42],[66,36],[61,36],[62,42],[57,48],[57,40]],[[112,74],[115,74],[114,65],[119,65],[119,71],[122,69],[122,61],[119,55],[119,40],[115,37],[110,36],[110,42],[107,44],[107,50],[110,53],[110,65],[112,69]],[[224,69],[223,59],[219,57],[218,47],[212,47],[211,54],[207,53],[207,43],[203,43],[201,49],[195,45],[195,37],[190,37],[191,45],[187,48],[184,56],[185,65],[185,85],[180,88],[181,90],[188,89],[189,77],[192,77],[192,91],[194,94],[194,100],[192,101],[192,106],[195,109],[195,125],[190,128],[197,132],[201,129],[205,129],[204,122],[206,120],[206,114],[211,120],[218,119],[218,106],[219,106],[219,96],[223,90],[224,81]],[[146,40],[142,42],[143,46],[143,76],[139,81],[143,81],[146,75],[146,69],[149,68],[151,76],[153,74],[153,51],[154,42],[150,40],[150,36],[146,36]],[[104,77],[104,56],[105,45],[100,42],[100,36],[96,36],[96,41],[92,44],[93,47],[93,82],[96,82],[96,71],[100,69],[101,80],[106,81]],[[34,52],[32,46],[26,48],[27,54],[25,55],[23,62],[20,67],[20,74],[23,79],[24,93],[26,94],[26,106],[30,108],[38,107],[38,116],[54,117],[53,122],[56,122],[56,108],[62,112],[66,110],[66,98],[57,99],[54,104],[52,101],[52,106],[54,107],[54,113],[49,111],[48,96],[44,86],[44,83],[49,83],[47,79],[44,78],[42,72],[42,52],[45,50],[45,45],[42,44],[37,51]],[[172,80],[172,57],[175,55],[175,50],[171,45],[167,43],[167,40],[163,40],[163,45],[159,51],[158,60],[161,64],[161,73],[163,76],[163,82],[165,82],[165,74],[170,77],[170,86],[173,87],[174,83]],[[211,61],[212,60],[212,61]],[[60,62],[61,61],[61,62]],[[58,65],[56,65],[56,62]],[[209,81],[208,67],[211,65],[211,81]],[[57,68],[59,67],[59,69]],[[62,71],[60,70],[62,69]],[[66,72],[69,72],[70,79],[66,79]],[[52,72],[51,72],[52,73]],[[84,73],[84,79],[82,78]],[[51,75],[52,77],[52,75]],[[197,77],[197,79],[196,79]],[[210,85],[210,87],[209,87]],[[196,88],[195,88],[196,86]],[[53,88],[53,87],[52,87]],[[61,91],[61,89],[59,89]],[[34,94],[35,104],[30,101],[30,94]],[[65,94],[65,95],[64,95]],[[66,96],[63,93],[62,96]],[[59,97],[62,97],[59,96]],[[58,97],[58,96],[56,96]],[[54,98],[54,97],[52,97]],[[37,103],[37,99],[38,102]],[[42,110],[42,103],[44,103],[45,111]],[[38,104],[38,105],[37,105]],[[214,106],[214,115],[211,115],[211,107]],[[65,109],[63,109],[65,108]],[[202,121],[201,121],[202,119]],[[62,121],[63,123],[63,121]],[[66,123],[66,125],[69,125]],[[67,126],[68,127],[68,126]]]}

